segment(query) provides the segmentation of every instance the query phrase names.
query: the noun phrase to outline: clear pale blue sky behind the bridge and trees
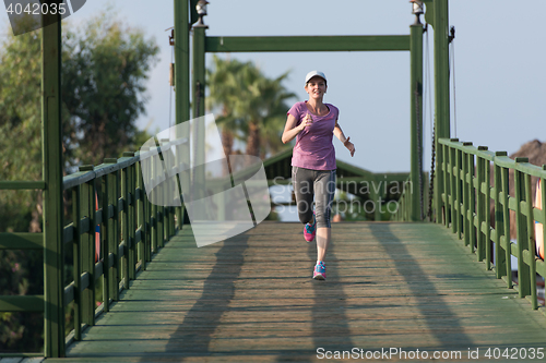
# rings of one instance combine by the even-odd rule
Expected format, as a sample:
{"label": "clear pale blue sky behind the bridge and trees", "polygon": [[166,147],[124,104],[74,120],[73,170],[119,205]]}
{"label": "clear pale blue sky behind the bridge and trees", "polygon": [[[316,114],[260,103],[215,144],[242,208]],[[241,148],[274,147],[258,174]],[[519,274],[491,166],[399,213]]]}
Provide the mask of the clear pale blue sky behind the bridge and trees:
{"label": "clear pale blue sky behind the bridge and trees", "polygon": [[[210,36],[406,35],[414,22],[407,0],[210,2],[204,19]],[[174,25],[173,0],[88,0],[68,21],[71,26],[79,26],[106,9],[129,26],[141,28],[146,38],[155,38],[159,46],[161,60],[147,83],[146,114],[138,120],[138,125],[152,133],[163,131],[169,126],[171,47],[169,32],[165,29]],[[544,0],[450,1],[449,23],[456,29],[452,137],[509,154],[531,140],[546,141],[545,13]],[[5,11],[0,12],[0,36],[10,31]],[[429,32],[428,41],[425,35],[424,48],[429,50],[432,62],[434,32]],[[324,101],[340,108],[340,124],[356,147],[352,158],[334,140],[337,158],[372,172],[410,170],[410,52],[233,53],[230,57],[256,62],[270,77],[290,71],[285,86],[297,94],[294,102],[307,99],[304,90],[307,72],[323,71],[329,85]],[[427,52],[424,57],[427,58]],[[206,63],[210,66],[212,56],[206,57]],[[434,87],[432,72],[432,68],[425,69]],[[428,97],[424,108],[424,168],[429,170],[434,105],[429,105]]]}

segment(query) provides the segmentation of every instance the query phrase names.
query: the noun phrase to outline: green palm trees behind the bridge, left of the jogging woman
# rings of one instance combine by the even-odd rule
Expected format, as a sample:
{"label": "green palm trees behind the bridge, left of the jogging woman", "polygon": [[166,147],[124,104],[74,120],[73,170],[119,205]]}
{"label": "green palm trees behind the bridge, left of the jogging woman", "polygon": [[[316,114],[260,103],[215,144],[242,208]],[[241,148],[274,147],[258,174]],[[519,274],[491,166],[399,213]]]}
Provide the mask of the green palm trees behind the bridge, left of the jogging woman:
{"label": "green palm trees behind the bridge, left of the jogging woman", "polygon": [[283,86],[288,72],[268,78],[252,62],[213,58],[207,70],[207,108],[219,109],[218,124],[226,155],[234,138],[246,143],[246,154],[266,157],[286,147],[281,142],[286,101],[295,97]]}

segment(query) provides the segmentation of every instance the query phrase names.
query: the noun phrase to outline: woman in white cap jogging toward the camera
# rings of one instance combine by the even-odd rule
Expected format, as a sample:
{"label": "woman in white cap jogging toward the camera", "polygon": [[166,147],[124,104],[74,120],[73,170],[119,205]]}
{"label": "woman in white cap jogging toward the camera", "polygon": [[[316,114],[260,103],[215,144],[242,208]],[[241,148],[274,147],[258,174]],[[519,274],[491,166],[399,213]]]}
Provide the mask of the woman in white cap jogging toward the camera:
{"label": "woman in white cap jogging toward the camera", "polygon": [[[307,242],[317,237],[317,265],[313,279],[324,280],[327,267],[324,256],[331,240],[330,211],[335,193],[335,135],[345,147],[355,154],[355,145],[345,137],[337,123],[340,110],[324,104],[327,76],[319,71],[306,75],[305,89],[309,100],[297,102],[287,112],[283,143],[296,137],[292,156],[292,182],[296,194],[299,220],[305,223]],[[314,213],[312,202],[314,197]]]}

